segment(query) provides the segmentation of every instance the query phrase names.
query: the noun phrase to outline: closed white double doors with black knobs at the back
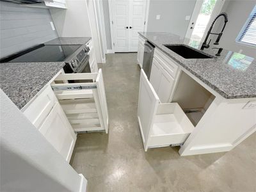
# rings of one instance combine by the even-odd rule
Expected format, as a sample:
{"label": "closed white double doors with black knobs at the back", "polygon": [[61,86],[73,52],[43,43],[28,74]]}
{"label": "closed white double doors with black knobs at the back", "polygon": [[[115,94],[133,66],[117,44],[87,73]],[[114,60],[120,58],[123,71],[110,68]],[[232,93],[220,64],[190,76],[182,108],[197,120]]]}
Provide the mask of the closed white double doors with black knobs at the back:
{"label": "closed white double doors with black knobs at the back", "polygon": [[146,0],[109,0],[115,52],[137,52],[138,32],[145,29]]}

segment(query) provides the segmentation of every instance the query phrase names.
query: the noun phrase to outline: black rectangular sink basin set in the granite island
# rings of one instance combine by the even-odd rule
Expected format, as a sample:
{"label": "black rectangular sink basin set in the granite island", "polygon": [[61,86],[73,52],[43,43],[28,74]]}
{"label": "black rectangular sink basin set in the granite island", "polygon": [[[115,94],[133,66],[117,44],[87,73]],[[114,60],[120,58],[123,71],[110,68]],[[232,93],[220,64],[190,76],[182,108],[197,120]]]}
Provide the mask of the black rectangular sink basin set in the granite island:
{"label": "black rectangular sink basin set in the granite island", "polygon": [[208,56],[200,51],[196,51],[195,49],[189,48],[185,45],[164,45],[168,49],[176,52],[180,56],[185,59],[212,59],[212,56]]}

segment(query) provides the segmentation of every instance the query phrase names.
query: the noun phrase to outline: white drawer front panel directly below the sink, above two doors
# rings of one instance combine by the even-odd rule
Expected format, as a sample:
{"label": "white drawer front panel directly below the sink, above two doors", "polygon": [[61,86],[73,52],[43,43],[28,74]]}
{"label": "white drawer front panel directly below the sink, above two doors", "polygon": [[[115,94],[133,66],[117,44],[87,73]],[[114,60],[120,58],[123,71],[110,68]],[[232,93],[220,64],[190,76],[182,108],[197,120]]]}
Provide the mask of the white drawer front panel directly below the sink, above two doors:
{"label": "white drawer front panel directly below the sink, above two doors", "polygon": [[160,65],[175,79],[178,71],[178,65],[176,65],[166,54],[159,51],[159,49],[154,50],[154,58],[160,63]]}

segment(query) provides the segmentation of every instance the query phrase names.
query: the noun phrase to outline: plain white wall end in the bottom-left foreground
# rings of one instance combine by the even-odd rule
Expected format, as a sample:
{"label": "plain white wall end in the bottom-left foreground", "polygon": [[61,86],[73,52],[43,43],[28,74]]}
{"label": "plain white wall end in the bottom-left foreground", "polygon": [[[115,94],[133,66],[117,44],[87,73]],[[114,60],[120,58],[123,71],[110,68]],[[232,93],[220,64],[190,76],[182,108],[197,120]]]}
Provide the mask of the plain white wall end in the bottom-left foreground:
{"label": "plain white wall end in the bottom-left foreground", "polygon": [[79,191],[81,177],[0,89],[1,192]]}

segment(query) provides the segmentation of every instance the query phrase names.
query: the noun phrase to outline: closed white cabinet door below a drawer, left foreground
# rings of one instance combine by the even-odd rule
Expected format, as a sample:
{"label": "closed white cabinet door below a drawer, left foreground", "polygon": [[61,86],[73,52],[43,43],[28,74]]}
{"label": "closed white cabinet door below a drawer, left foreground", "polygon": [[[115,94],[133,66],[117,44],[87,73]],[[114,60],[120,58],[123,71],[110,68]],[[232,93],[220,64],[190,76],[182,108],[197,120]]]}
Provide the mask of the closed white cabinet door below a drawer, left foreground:
{"label": "closed white cabinet door below a drawer, left foreground", "polygon": [[76,142],[76,134],[58,102],[52,108],[39,131],[66,161],[70,161]]}

